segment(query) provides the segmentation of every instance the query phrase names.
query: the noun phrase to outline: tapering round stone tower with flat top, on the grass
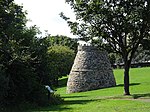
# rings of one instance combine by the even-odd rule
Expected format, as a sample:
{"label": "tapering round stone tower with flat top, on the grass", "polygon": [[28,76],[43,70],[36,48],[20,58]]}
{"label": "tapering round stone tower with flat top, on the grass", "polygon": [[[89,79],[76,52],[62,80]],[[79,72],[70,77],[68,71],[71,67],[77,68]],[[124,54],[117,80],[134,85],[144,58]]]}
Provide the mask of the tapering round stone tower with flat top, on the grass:
{"label": "tapering round stone tower with flat top, on the grass", "polygon": [[78,46],[67,82],[67,93],[82,92],[116,85],[106,51],[94,46]]}

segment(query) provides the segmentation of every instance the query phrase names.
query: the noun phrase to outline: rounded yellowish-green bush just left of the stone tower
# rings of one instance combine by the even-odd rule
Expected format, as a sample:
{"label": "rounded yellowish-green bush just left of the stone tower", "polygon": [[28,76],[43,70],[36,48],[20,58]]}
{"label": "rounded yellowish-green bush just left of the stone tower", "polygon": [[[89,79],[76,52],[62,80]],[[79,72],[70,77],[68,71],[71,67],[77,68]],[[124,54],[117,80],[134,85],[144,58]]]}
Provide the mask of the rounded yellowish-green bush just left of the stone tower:
{"label": "rounded yellowish-green bush just left of the stone tower", "polygon": [[49,47],[49,68],[50,77],[55,85],[58,85],[58,78],[69,74],[75,53],[67,46],[55,45]]}

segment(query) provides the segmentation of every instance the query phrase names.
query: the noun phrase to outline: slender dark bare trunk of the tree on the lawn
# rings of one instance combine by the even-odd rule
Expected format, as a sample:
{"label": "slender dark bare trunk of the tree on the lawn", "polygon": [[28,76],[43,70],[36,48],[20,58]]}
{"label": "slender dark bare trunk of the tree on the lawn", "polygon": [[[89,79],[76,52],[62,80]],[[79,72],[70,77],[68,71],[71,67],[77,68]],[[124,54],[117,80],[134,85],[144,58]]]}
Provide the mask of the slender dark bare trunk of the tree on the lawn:
{"label": "slender dark bare trunk of the tree on the lawn", "polygon": [[124,62],[124,95],[130,95],[130,90],[129,90],[129,69],[130,69],[130,62],[126,61]]}

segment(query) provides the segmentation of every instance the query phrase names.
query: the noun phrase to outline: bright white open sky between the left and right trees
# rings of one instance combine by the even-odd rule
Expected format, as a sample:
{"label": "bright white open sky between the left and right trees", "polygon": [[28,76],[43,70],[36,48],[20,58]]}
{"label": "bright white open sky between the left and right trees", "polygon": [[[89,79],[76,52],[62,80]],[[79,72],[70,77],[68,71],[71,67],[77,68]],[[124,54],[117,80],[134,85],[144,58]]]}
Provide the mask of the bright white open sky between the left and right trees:
{"label": "bright white open sky between the left and right trees", "polygon": [[75,20],[74,13],[65,0],[15,0],[15,3],[23,5],[23,9],[27,10],[27,19],[31,20],[27,26],[37,25],[40,31],[48,30],[54,36],[75,37],[70,33],[66,21],[59,16],[60,12],[64,12],[67,17]]}

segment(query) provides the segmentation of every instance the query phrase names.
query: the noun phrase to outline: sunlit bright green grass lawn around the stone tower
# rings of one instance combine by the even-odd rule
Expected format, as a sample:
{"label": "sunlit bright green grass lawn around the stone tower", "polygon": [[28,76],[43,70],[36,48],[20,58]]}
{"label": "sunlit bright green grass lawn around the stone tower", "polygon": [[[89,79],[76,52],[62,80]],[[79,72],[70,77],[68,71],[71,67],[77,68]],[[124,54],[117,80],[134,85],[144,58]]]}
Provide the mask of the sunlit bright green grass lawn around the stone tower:
{"label": "sunlit bright green grass lawn around the stone tower", "polygon": [[57,93],[64,103],[32,112],[150,112],[150,67],[130,70],[131,96],[123,96],[123,70],[114,74],[116,87],[72,94],[66,94],[67,78],[62,78]]}

